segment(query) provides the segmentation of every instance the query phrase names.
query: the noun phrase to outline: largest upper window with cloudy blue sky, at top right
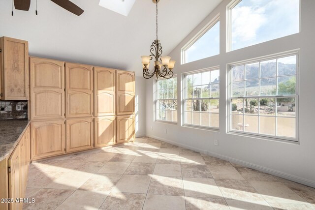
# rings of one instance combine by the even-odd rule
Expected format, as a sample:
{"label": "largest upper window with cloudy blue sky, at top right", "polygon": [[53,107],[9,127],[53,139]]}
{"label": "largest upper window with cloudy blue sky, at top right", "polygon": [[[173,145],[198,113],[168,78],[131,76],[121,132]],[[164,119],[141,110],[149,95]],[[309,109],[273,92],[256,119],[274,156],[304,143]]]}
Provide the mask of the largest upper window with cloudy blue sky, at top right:
{"label": "largest upper window with cloudy blue sky, at top right", "polygon": [[230,50],[299,32],[300,0],[236,0],[229,7]]}

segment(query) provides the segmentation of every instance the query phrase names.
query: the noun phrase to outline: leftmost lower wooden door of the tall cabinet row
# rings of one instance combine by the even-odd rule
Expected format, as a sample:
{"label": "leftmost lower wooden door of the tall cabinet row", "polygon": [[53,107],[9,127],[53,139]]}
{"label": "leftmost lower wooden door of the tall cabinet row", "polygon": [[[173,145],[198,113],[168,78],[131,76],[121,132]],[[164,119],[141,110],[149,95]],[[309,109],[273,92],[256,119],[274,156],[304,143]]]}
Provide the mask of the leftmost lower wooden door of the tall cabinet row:
{"label": "leftmost lower wooden door of the tall cabinet row", "polygon": [[31,158],[40,159],[63,154],[65,151],[64,120],[31,123]]}

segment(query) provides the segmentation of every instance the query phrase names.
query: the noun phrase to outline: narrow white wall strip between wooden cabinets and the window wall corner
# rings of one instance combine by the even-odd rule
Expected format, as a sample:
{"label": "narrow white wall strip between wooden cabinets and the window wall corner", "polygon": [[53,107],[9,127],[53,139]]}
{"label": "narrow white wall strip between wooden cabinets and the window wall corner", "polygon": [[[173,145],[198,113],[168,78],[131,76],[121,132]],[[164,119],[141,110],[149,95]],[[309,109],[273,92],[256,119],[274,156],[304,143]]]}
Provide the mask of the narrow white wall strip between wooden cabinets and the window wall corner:
{"label": "narrow white wall strip between wooden cabinets and the window wall corner", "polygon": [[143,77],[136,77],[135,84],[135,129],[136,137],[141,137],[146,134],[146,81]]}

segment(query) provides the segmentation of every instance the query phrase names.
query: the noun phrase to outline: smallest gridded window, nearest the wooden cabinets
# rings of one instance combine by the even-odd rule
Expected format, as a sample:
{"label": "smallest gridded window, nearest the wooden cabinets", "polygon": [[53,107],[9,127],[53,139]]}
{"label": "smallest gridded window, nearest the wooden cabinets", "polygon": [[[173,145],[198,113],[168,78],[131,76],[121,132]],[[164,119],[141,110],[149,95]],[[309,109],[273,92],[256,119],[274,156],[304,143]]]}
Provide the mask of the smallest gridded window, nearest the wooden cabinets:
{"label": "smallest gridded window, nearest the wooden cabinets", "polygon": [[156,80],[156,120],[177,122],[177,77]]}

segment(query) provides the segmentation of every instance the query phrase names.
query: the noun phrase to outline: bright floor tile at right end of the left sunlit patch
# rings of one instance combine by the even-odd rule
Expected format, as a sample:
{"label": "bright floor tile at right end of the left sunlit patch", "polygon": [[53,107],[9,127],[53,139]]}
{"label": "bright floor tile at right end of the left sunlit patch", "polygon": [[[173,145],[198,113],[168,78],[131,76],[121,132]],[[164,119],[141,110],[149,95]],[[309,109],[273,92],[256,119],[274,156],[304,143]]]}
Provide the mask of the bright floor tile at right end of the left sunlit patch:
{"label": "bright floor tile at right end of the left sunlit patch", "polygon": [[94,174],[79,190],[88,190],[108,195],[121,178],[121,174]]}

